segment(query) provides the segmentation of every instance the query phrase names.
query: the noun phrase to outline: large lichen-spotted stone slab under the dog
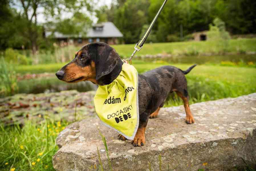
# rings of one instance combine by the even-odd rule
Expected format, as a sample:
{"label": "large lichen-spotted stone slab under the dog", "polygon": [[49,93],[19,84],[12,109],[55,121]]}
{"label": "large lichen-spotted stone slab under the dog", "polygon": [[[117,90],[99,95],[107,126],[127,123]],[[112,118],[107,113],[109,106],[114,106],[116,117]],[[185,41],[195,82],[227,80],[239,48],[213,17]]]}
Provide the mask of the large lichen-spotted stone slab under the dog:
{"label": "large lichen-spotted stone slab under the dog", "polygon": [[[150,119],[146,144],[133,147],[130,140],[118,140],[118,133],[101,124],[99,118],[70,124],[56,142],[53,156],[57,171],[100,170],[97,147],[104,170],[110,170],[104,144],[96,125],[104,134],[111,165],[117,170],[223,170],[256,163],[256,93],[238,98],[190,105],[195,123],[185,123],[183,106],[161,108]],[[244,160],[244,161],[243,161]]]}

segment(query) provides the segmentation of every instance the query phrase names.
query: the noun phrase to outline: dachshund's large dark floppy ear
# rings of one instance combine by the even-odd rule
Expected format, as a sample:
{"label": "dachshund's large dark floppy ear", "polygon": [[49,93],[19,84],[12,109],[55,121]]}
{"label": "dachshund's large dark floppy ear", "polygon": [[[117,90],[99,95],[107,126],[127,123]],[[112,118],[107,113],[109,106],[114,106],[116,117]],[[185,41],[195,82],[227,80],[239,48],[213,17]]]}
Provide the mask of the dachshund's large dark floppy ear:
{"label": "dachshund's large dark floppy ear", "polygon": [[106,43],[94,43],[96,80],[99,85],[112,83],[122,70],[123,62],[115,49]]}

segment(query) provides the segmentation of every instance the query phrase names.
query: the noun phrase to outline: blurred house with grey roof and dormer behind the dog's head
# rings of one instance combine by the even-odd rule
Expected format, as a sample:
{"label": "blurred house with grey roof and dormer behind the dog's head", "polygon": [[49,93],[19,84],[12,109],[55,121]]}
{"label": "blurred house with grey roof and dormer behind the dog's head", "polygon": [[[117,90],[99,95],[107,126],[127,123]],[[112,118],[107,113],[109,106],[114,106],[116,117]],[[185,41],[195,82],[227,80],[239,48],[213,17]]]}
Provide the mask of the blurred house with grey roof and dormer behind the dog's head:
{"label": "blurred house with grey roof and dormer behind the dog's head", "polygon": [[59,32],[45,31],[45,37],[50,37],[60,44],[87,44],[92,42],[105,42],[109,45],[119,43],[118,38],[123,37],[123,34],[115,27],[112,22],[104,22],[92,25],[86,36],[63,35]]}

